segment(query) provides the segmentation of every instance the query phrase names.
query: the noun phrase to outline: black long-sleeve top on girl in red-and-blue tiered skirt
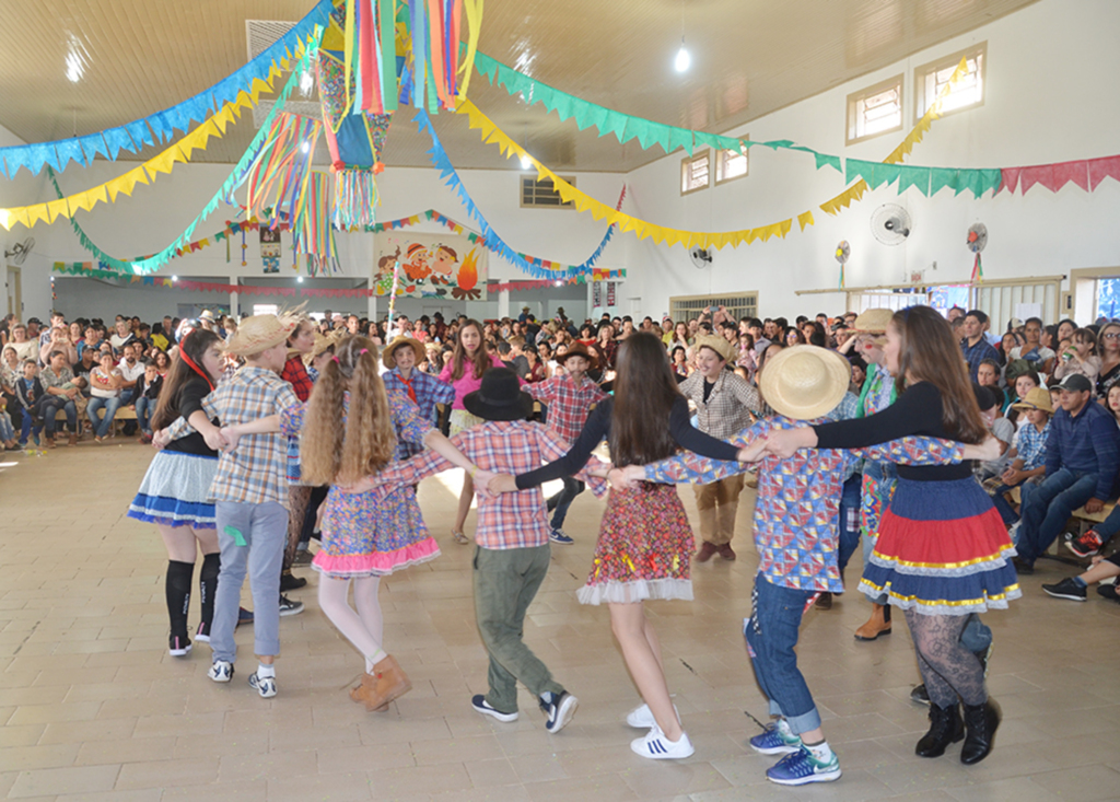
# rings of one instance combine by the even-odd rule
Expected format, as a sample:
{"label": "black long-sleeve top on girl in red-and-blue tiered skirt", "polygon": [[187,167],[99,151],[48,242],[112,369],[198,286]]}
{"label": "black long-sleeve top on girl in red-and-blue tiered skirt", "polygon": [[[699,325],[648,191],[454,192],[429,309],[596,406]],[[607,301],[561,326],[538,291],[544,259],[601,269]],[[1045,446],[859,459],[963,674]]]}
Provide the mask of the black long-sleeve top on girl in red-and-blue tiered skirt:
{"label": "black long-sleeve top on girl in red-and-blue tiered skirt", "polygon": [[[868,418],[842,420],[814,426],[818,448],[862,448],[900,437],[917,435],[955,439],[945,431],[941,419],[941,391],[930,382],[918,382],[906,389],[898,400]],[[972,461],[958,465],[899,465],[898,476],[915,482],[951,482],[972,475]]]}

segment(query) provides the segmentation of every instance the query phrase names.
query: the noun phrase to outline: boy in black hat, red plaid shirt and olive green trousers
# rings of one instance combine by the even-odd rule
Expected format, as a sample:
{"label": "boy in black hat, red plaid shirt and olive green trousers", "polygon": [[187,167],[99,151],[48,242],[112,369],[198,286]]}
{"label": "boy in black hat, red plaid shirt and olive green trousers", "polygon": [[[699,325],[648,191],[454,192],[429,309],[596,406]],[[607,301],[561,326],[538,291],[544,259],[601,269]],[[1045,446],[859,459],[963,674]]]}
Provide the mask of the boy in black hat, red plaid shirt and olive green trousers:
{"label": "boy in black hat, red plaid shirt and olive green trousers", "polygon": [[[451,438],[451,442],[482,470],[474,474],[484,487],[493,473],[519,474],[559,459],[569,446],[540,423],[525,419],[533,399],[520,389],[517,375],[507,367],[483,374],[482,388],[463,399],[472,414],[486,420]],[[356,485],[389,491],[411,485],[426,476],[455,467],[436,451],[424,451]],[[588,478],[586,472],[580,476]],[[592,491],[604,483],[589,479]],[[545,728],[558,733],[576,712],[579,700],[552,679],[548,666],[522,641],[525,612],[549,570],[549,523],[540,488],[484,496],[478,502],[474,568],[475,616],[489,654],[489,691],[470,703],[498,721],[517,718],[517,681],[538,697]]]}

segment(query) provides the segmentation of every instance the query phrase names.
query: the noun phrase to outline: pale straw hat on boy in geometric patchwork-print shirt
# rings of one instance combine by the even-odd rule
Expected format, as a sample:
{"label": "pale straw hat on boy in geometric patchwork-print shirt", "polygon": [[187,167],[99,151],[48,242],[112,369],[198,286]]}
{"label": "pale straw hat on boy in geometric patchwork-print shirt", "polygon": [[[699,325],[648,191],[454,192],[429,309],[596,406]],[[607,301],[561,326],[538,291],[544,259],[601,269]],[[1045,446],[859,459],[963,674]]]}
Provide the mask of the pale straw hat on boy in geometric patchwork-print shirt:
{"label": "pale straw hat on boy in geometric patchwork-print shirt", "polygon": [[851,365],[834,351],[816,345],[783,348],[766,360],[759,389],[778,414],[812,420],[836,409],[848,385]]}

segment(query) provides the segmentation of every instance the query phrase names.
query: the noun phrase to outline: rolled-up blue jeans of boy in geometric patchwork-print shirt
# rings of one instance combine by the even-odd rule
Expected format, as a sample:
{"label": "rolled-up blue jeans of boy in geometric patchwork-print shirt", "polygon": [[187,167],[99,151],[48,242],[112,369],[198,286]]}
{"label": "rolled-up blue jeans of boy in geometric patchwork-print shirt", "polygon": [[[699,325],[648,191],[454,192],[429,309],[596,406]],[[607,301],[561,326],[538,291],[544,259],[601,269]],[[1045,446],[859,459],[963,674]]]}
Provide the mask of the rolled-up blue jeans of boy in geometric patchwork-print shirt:
{"label": "rolled-up blue jeans of boy in geometric patchwork-print shirt", "polygon": [[793,651],[801,616],[815,593],[774,585],[758,573],[752,596],[754,610],[743,622],[747,653],[758,687],[769,699],[771,716],[785,717],[790,729],[799,735],[821,726],[821,716]]}

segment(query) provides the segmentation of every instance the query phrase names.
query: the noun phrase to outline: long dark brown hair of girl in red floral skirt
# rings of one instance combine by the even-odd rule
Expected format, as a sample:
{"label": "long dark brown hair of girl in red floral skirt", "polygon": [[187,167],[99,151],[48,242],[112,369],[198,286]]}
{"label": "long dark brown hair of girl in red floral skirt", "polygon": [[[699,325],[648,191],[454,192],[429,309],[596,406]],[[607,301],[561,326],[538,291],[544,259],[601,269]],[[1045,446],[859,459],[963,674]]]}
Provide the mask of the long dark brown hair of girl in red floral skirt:
{"label": "long dark brown hair of girl in red floral skirt", "polygon": [[669,432],[669,413],[681,392],[661,338],[645,332],[632,334],[618,348],[615,370],[612,461],[647,465],[671,456],[676,441]]}

